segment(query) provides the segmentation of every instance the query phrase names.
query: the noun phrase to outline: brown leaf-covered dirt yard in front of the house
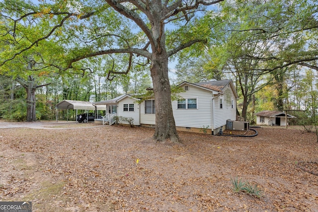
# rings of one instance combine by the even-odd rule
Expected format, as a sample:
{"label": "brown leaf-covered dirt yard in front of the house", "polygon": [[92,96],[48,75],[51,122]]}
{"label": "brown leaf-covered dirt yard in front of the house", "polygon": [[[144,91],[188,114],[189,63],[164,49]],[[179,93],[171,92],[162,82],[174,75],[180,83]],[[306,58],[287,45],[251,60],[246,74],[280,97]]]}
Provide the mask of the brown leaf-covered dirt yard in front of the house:
{"label": "brown leaf-covered dirt yard in front of the house", "polygon": [[[149,128],[35,127],[0,129],[0,201],[32,201],[34,212],[318,211],[312,133],[180,132],[182,144],[173,145],[153,141]],[[234,192],[231,179],[256,186],[261,197]]]}

